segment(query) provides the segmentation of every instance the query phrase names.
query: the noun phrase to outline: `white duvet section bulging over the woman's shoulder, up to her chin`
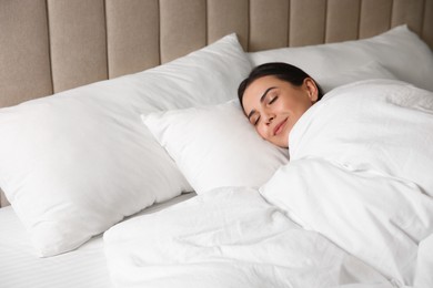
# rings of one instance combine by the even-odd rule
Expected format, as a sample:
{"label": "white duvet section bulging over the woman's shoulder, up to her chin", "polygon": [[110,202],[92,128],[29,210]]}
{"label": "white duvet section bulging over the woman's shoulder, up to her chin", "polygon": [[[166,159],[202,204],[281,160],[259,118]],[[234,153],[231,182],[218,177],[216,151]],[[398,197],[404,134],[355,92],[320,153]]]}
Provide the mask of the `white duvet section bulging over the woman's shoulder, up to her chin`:
{"label": "white duvet section bulging over the woman's shoulder, up to her chin", "polygon": [[392,80],[334,89],[289,135],[291,160],[325,157],[419,185],[433,196],[433,93]]}

